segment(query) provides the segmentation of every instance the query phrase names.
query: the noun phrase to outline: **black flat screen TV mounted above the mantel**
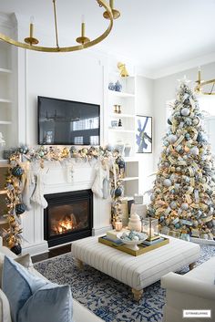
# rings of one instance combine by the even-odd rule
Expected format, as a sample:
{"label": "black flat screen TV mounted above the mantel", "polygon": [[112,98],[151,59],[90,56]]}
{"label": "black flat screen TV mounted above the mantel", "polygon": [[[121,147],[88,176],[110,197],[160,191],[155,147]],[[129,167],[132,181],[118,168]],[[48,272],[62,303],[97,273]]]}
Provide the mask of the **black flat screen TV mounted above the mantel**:
{"label": "black flat screen TV mounted above the mantel", "polygon": [[38,144],[99,145],[100,106],[38,96]]}

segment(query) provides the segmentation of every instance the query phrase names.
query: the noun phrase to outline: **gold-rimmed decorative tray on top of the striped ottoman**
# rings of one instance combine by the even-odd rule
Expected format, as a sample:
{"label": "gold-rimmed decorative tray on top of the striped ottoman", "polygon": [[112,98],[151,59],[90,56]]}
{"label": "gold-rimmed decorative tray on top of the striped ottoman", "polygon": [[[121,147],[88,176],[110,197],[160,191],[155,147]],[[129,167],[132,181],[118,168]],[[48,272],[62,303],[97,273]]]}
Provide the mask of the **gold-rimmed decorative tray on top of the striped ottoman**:
{"label": "gold-rimmed decorative tray on top of the striped ottoman", "polygon": [[118,249],[118,251],[127,253],[127,254],[132,254],[133,256],[138,256],[139,254],[145,254],[150,251],[153,251],[153,249],[157,249],[161,246],[164,246],[165,244],[169,244],[169,238],[164,238],[163,241],[159,242],[158,244],[151,244],[151,245],[146,245],[146,244],[138,244],[138,251],[134,251],[133,249],[130,249],[126,246],[126,244],[116,244],[110,240],[104,239],[106,236],[98,237],[98,243],[101,244],[107,244],[107,246],[113,247]]}

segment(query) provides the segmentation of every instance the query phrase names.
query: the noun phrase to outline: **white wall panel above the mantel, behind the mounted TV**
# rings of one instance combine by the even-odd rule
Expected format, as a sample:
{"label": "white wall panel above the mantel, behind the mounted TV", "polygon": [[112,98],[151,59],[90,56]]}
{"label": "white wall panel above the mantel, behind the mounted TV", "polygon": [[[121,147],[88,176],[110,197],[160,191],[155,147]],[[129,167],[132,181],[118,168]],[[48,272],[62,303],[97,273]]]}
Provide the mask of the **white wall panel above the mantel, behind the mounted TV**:
{"label": "white wall panel above the mantel, behind the mounted TV", "polygon": [[99,104],[103,129],[103,65],[87,50],[67,54],[27,52],[26,143],[29,145],[37,142],[37,96]]}

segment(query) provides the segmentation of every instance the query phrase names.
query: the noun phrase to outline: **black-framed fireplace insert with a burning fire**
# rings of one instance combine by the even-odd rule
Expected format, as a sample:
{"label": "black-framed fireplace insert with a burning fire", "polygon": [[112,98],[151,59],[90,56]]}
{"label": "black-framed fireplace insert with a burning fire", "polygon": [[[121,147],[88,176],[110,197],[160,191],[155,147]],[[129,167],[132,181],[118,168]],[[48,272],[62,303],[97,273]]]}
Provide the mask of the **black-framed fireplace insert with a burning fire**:
{"label": "black-framed fireplace insert with a burning fire", "polygon": [[91,190],[46,194],[45,198],[44,238],[49,247],[92,235]]}

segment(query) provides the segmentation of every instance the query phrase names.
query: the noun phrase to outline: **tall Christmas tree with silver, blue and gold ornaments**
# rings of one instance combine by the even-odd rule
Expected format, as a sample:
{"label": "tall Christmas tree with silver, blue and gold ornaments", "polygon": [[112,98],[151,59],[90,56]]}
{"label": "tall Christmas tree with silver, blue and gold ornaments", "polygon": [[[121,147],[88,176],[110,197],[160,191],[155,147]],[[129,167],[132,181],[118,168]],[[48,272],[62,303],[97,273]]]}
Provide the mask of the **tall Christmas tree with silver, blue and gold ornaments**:
{"label": "tall Christmas tree with silver, blue and gold ornaments", "polygon": [[159,219],[161,233],[188,241],[215,236],[215,172],[202,120],[188,81],[180,81],[148,215]]}

